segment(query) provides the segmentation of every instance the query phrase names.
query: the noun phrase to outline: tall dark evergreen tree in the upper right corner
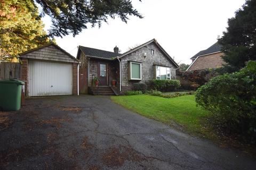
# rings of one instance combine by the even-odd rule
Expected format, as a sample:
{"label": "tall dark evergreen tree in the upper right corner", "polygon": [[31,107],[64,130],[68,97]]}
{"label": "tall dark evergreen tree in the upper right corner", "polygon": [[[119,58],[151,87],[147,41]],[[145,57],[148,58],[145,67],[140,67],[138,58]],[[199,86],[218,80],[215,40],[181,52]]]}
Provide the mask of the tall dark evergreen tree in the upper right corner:
{"label": "tall dark evergreen tree in the upper right corner", "polygon": [[249,60],[256,60],[256,1],[247,0],[228,20],[227,31],[219,39],[226,69],[234,72]]}

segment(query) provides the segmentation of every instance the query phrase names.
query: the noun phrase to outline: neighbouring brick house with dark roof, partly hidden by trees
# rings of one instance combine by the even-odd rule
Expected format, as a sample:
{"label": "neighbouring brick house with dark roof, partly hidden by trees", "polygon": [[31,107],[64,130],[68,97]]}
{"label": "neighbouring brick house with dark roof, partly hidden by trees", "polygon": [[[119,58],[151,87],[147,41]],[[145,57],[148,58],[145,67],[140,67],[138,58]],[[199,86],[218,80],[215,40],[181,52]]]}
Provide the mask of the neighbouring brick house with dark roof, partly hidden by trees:
{"label": "neighbouring brick house with dark roof, partly hidden by trees", "polygon": [[187,71],[214,69],[221,67],[225,62],[222,60],[223,53],[221,52],[221,45],[218,43],[213,44],[211,47],[200,51],[190,59],[192,63]]}

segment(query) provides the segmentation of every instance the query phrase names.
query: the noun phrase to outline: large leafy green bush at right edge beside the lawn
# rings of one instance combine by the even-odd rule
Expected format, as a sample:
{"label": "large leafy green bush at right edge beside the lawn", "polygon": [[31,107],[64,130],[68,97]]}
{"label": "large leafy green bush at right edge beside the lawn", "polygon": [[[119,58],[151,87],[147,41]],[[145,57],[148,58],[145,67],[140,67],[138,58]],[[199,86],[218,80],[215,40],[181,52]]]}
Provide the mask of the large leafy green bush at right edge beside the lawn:
{"label": "large leafy green bush at right edge beside the lawn", "polygon": [[229,132],[256,140],[256,61],[239,72],[211,79],[196,91],[196,102]]}

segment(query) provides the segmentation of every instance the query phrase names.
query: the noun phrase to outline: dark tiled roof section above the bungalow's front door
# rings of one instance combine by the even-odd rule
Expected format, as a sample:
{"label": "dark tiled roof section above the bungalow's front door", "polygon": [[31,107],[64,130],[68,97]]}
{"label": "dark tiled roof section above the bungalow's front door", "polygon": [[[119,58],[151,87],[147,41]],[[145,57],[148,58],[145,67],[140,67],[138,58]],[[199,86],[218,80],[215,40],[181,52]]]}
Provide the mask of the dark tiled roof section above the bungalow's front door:
{"label": "dark tiled roof section above the bungalow's front door", "polygon": [[83,46],[79,46],[79,49],[81,49],[82,52],[86,56],[97,57],[97,58],[113,59],[114,57],[122,55],[122,54],[119,54],[119,53],[108,52],[106,50],[83,47]]}

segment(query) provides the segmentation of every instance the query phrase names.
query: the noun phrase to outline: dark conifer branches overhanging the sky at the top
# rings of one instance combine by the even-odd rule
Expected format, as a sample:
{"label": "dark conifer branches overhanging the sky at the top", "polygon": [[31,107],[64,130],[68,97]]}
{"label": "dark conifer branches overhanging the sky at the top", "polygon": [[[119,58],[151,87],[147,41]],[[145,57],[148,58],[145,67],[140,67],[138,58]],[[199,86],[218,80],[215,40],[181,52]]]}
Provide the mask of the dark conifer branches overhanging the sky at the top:
{"label": "dark conifer branches overhanging the sky at the top", "polygon": [[[33,2],[33,0],[30,0]],[[107,19],[119,16],[122,21],[129,20],[128,15],[142,18],[132,6],[130,0],[36,0],[42,7],[42,14],[49,15],[52,20],[52,28],[49,36],[62,37],[69,33],[73,36],[78,35],[83,29],[86,29],[87,23],[101,25],[101,22],[107,22]]]}

